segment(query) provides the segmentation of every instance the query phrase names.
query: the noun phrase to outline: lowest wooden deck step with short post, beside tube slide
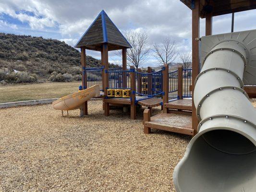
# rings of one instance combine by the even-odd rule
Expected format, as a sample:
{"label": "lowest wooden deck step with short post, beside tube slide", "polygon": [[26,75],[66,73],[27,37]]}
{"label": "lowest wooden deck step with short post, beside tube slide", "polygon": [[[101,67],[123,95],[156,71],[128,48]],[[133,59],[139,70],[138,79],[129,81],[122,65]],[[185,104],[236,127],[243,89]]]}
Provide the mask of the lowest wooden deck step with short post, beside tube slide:
{"label": "lowest wooden deck step with short post, beside tube slide", "polygon": [[192,117],[173,113],[161,113],[150,118],[150,110],[144,110],[144,133],[150,133],[151,129],[159,129],[170,132],[177,132],[187,135],[194,135],[192,129]]}

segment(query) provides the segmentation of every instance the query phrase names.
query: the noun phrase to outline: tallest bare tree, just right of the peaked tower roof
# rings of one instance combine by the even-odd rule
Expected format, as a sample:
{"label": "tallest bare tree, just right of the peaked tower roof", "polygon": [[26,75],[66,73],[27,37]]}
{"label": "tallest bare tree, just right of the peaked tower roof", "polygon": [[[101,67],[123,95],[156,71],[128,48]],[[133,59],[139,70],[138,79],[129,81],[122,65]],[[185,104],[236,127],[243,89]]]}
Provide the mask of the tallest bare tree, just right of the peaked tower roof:
{"label": "tallest bare tree, just right of the peaked tower roof", "polygon": [[[134,66],[138,71],[141,66],[148,58],[150,47],[148,45],[148,36],[145,32],[138,32],[135,30],[125,31],[123,35],[133,48],[127,49],[127,64]],[[116,55],[122,57],[122,50],[115,52]]]}

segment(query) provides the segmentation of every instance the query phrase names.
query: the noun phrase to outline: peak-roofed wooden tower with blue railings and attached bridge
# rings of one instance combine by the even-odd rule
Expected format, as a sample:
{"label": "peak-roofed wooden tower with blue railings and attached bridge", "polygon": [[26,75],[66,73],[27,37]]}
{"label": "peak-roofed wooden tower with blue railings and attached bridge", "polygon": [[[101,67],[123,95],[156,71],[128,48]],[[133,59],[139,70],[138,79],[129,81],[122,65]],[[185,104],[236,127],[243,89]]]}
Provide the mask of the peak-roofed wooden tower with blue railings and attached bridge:
{"label": "peak-roofed wooden tower with blue railings and attached bridge", "polygon": [[[103,10],[75,47],[81,48],[82,88],[99,85],[105,116],[110,115],[111,105],[130,107],[131,119],[135,119],[137,106],[145,106],[152,111],[153,107],[163,105],[162,98],[164,96],[169,100],[169,93],[178,91],[178,71],[169,72],[168,66],[163,67],[158,72],[153,72],[150,67],[148,67],[147,72],[142,72],[141,69],[135,71],[134,67],[127,69],[126,52],[127,48],[131,48],[131,45]],[[101,67],[86,67],[85,49],[101,52]],[[108,51],[119,49],[122,49],[122,68],[109,69]],[[180,70],[184,73],[188,71]],[[165,78],[163,78],[164,74]],[[180,78],[183,80],[182,76]],[[187,78],[187,83],[185,82],[184,96],[189,97],[191,96],[189,91],[191,76],[185,78]],[[163,81],[168,81],[173,86],[163,88]],[[182,87],[178,92],[182,97]],[[86,114],[87,101],[81,107],[80,116]]]}

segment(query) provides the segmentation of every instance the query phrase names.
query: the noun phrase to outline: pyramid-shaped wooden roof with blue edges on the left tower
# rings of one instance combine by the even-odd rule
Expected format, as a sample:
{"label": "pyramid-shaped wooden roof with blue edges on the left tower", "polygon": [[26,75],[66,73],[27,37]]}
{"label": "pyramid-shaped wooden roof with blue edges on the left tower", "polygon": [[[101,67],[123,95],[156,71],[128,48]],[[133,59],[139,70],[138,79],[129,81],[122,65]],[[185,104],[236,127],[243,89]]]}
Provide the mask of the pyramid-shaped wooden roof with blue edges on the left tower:
{"label": "pyramid-shaped wooden roof with blue edges on the left tower", "polygon": [[132,48],[106,12],[102,10],[74,47],[101,51],[104,43],[108,43],[109,51]]}

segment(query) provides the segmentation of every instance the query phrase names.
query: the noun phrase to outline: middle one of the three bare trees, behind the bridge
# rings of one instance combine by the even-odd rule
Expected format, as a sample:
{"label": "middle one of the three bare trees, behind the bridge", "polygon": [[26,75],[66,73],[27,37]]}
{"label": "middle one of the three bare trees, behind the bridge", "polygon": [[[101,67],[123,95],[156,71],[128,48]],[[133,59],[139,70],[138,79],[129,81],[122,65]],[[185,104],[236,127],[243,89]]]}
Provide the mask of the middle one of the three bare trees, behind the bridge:
{"label": "middle one of the three bare trees, behind the bridge", "polygon": [[161,65],[170,65],[177,57],[176,43],[170,38],[164,38],[161,43],[155,43],[152,50]]}

